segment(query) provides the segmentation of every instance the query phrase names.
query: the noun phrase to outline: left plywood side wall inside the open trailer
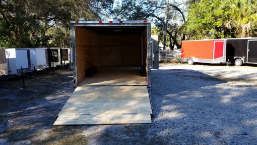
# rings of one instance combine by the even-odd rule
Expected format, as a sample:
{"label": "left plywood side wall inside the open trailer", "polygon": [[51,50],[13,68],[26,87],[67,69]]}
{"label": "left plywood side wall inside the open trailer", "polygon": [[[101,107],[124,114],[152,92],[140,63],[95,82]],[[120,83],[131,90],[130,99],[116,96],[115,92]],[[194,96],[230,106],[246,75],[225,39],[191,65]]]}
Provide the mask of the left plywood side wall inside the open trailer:
{"label": "left plywood side wall inside the open trailer", "polygon": [[100,36],[84,27],[75,27],[77,82],[85,79],[85,70],[101,67]]}

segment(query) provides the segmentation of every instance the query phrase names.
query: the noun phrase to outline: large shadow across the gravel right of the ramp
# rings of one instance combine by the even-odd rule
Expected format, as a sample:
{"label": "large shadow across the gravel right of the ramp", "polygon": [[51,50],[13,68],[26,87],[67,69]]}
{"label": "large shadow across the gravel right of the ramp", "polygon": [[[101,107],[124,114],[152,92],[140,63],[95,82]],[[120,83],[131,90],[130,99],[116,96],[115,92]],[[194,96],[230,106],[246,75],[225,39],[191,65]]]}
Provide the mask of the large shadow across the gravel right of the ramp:
{"label": "large shadow across the gravel right of the ramp", "polygon": [[230,85],[194,70],[153,70],[153,123],[108,126],[98,143],[254,144],[256,88]]}

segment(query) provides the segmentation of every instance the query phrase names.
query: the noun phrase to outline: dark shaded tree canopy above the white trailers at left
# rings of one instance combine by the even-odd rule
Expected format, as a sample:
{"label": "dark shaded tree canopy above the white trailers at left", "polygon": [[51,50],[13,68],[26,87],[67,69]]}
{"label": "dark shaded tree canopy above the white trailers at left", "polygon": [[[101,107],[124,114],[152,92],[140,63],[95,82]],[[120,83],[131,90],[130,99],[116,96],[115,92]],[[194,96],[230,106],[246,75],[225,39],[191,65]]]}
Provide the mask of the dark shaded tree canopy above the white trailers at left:
{"label": "dark shaded tree canopy above the white trailers at left", "polygon": [[[69,31],[70,20],[96,20],[112,0],[0,0],[0,46],[47,46],[57,29]],[[49,30],[54,30],[49,32]],[[58,35],[60,34],[60,35]],[[69,45],[70,35],[63,40]],[[58,45],[56,45],[58,46]]]}

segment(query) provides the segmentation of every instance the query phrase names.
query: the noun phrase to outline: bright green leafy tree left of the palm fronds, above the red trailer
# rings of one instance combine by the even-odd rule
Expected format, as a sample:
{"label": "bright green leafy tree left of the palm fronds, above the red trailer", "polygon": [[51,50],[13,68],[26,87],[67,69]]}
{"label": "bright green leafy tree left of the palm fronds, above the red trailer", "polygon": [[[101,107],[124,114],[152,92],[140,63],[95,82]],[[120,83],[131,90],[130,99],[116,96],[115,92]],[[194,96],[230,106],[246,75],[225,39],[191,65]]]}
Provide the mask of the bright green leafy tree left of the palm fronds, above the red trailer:
{"label": "bright green leafy tree left of the palm fronds, above the red trailer", "polygon": [[223,37],[218,30],[222,25],[221,12],[218,10],[220,3],[219,0],[203,0],[191,5],[185,25],[191,39]]}

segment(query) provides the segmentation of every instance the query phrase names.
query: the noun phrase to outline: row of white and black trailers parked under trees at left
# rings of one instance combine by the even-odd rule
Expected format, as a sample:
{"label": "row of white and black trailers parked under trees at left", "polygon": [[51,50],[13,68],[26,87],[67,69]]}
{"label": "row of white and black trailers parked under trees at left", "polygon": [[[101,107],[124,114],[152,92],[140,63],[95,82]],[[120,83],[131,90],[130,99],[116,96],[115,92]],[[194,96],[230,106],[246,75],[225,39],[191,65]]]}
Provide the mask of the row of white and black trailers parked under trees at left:
{"label": "row of white and black trailers parked under trees at left", "polygon": [[70,62],[68,48],[0,49],[0,75],[21,74]]}

